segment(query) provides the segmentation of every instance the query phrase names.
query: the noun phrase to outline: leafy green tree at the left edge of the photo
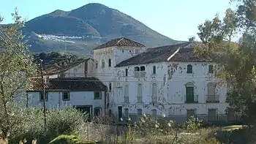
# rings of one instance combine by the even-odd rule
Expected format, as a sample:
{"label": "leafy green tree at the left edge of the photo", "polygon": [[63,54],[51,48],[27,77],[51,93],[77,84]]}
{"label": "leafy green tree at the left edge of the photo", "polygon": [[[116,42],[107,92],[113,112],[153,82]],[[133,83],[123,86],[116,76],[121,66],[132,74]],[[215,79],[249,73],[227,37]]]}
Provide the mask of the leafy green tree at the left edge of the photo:
{"label": "leafy green tree at the left edge of the photo", "polygon": [[24,21],[17,10],[12,16],[15,23],[0,26],[0,131],[4,140],[8,140],[10,129],[22,120],[19,102],[26,96],[28,77],[35,72],[28,47],[21,42]]}

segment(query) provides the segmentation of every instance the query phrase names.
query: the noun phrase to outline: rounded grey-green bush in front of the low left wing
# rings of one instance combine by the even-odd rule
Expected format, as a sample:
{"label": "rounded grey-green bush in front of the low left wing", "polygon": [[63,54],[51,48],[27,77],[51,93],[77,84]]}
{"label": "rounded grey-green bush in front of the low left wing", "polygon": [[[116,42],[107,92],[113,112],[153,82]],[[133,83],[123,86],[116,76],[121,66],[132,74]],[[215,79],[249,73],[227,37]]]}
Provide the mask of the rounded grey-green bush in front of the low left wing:
{"label": "rounded grey-green bush in front of the low left wing", "polygon": [[47,130],[44,129],[43,112],[37,108],[27,108],[23,121],[10,132],[10,143],[26,139],[31,143],[49,143],[61,134],[77,134],[86,125],[86,116],[74,108],[50,109],[47,111]]}

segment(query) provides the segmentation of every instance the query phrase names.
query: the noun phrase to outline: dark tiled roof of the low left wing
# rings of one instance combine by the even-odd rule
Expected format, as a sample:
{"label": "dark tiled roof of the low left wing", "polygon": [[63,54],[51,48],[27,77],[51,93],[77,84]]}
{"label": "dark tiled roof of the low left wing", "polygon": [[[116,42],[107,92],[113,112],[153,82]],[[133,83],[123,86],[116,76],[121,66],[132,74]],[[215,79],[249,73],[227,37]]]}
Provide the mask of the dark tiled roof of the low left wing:
{"label": "dark tiled roof of the low left wing", "polygon": [[[33,78],[27,91],[42,91],[42,78]],[[45,91],[105,91],[105,86],[95,77],[53,78],[45,83]]]}

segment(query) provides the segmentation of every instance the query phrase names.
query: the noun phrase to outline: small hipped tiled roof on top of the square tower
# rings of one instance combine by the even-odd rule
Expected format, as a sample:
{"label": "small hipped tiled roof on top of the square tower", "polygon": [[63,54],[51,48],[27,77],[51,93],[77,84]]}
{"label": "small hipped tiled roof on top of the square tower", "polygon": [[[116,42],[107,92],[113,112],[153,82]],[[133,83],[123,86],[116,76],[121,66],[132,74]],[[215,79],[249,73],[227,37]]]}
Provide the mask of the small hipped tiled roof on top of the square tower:
{"label": "small hipped tiled roof on top of the square tower", "polygon": [[94,48],[94,50],[99,50],[102,48],[108,48],[108,47],[113,47],[113,46],[132,46],[132,47],[146,47],[145,45],[135,42],[131,39],[127,39],[125,37],[118,38],[118,39],[112,39],[102,45],[97,46]]}

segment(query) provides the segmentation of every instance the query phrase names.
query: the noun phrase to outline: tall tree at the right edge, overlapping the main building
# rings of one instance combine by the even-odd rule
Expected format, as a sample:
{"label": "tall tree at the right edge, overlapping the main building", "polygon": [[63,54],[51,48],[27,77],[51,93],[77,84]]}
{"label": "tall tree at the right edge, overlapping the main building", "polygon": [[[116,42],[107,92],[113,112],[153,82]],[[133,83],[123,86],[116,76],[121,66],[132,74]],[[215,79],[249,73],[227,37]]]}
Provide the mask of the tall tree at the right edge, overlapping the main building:
{"label": "tall tree at the right edge, overlapping the main building", "polygon": [[[227,9],[225,18],[218,15],[198,26],[202,43],[195,43],[195,53],[217,62],[217,77],[227,86],[227,102],[236,112],[246,113],[246,120],[256,120],[255,83],[255,0],[242,0],[238,9]],[[252,8],[253,7],[253,8]],[[233,42],[238,32],[243,36]]]}

